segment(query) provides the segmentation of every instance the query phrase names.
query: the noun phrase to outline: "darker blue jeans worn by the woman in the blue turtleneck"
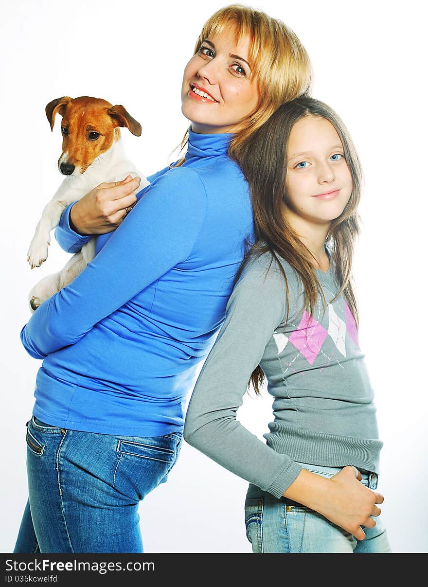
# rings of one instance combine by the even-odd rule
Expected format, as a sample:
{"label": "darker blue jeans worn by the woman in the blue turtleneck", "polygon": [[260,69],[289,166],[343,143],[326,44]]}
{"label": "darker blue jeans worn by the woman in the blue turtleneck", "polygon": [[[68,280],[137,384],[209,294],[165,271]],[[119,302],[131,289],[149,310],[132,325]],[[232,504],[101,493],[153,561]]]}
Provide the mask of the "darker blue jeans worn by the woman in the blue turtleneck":
{"label": "darker blue jeans worn by the woman in the blue turtleneck", "polygon": [[33,416],[14,552],[143,552],[138,504],[167,480],[181,437],[65,430]]}

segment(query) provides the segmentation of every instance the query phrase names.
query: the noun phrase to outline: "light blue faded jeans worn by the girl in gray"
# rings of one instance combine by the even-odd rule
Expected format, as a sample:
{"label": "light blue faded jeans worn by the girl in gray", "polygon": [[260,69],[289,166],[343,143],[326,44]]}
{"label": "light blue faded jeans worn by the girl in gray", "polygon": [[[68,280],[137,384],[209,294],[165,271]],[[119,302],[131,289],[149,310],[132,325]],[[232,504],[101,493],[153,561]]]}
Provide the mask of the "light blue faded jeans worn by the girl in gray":
{"label": "light blue faded jeans worn by the girl in gray", "polygon": [[[333,477],[342,467],[300,463],[308,471]],[[361,471],[366,487],[376,489],[378,475]],[[318,512],[285,497],[277,499],[250,484],[245,500],[245,526],[252,552],[391,552],[386,529],[379,516],[374,528],[363,528],[366,538],[358,541]]]}

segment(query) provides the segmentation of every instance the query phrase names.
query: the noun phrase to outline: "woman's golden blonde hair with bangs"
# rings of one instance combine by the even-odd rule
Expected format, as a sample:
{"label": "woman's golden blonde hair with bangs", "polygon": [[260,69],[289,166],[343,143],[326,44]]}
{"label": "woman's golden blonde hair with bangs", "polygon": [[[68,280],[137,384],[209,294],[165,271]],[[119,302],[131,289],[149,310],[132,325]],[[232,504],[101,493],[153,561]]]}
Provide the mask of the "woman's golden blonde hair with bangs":
{"label": "woman's golden blonde hair with bangs", "polygon": [[[241,128],[234,133],[228,154],[234,157],[240,146],[255,130],[259,129],[281,104],[298,96],[308,95],[311,90],[312,68],[308,53],[291,29],[265,12],[231,4],[215,12],[198,36],[194,54],[205,39],[218,35],[225,28],[235,26],[237,42],[244,35],[250,37],[248,60],[260,91],[257,109]],[[181,143],[184,149],[187,133]],[[183,163],[180,160],[178,164]]]}

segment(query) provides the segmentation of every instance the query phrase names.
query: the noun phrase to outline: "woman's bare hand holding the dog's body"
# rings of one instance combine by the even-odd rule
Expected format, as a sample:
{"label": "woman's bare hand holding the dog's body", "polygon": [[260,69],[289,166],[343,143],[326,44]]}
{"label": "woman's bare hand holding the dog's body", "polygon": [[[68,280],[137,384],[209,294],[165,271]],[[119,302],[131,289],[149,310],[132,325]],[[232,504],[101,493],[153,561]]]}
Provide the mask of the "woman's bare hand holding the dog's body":
{"label": "woman's bare hand holding the dog's body", "polygon": [[70,226],[82,235],[106,234],[115,230],[132,208],[141,178],[127,176],[123,181],[102,183],[80,198],[70,210]]}

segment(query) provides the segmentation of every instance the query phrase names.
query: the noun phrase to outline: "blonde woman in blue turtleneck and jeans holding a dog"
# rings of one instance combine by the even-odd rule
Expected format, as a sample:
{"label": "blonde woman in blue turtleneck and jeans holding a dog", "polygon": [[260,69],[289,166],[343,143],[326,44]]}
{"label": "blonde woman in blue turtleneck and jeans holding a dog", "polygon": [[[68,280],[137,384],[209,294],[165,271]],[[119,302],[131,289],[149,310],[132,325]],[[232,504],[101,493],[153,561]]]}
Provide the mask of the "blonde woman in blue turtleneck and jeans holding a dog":
{"label": "blonde woman in blue turtleneck and jeans holding a dog", "polygon": [[287,26],[246,6],[221,9],[184,69],[186,157],[149,177],[129,214],[138,187],[129,178],[64,211],[63,248],[100,237],[94,261],[21,332],[43,363],[15,552],[143,551],[139,501],[177,460],[186,394],[254,237],[248,185],[230,155],[310,82]]}

